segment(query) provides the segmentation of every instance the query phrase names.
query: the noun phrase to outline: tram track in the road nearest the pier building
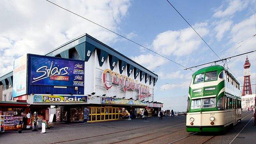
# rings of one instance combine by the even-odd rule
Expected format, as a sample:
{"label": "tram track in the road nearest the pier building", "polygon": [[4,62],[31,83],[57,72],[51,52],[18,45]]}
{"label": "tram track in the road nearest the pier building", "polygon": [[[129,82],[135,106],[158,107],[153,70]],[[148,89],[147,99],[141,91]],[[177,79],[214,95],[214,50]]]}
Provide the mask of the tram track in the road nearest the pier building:
{"label": "tram track in the road nearest the pier building", "polygon": [[[183,120],[183,121],[185,121],[185,120]],[[168,127],[173,127],[173,126],[177,126],[177,125],[181,125],[181,124],[184,125],[185,123],[181,123],[183,121],[174,121],[174,122],[170,122],[170,123],[165,123],[165,125],[174,124],[174,123],[179,123],[179,124],[171,125],[171,126],[168,126]],[[102,136],[107,136],[107,135],[115,135],[115,134],[119,134],[119,133],[130,132],[130,131],[133,131],[133,130],[142,131],[145,128],[146,129],[149,129],[149,128],[153,128],[154,129],[154,127],[159,127],[159,126],[163,126],[163,125],[162,124],[158,124],[158,125],[154,125],[154,126],[144,126],[144,127],[139,127],[139,128],[133,128],[133,129],[128,129],[128,130],[117,131],[117,132],[113,132],[113,133],[106,133],[106,134],[102,134],[102,135],[94,135],[94,136],[89,136],[89,137],[80,137],[80,138],[76,138],[76,139],[69,139],[69,140],[65,140],[65,141],[61,141],[61,142],[54,142],[54,143],[51,143],[51,144],[61,144],[61,143],[75,142],[75,141],[79,141],[79,140],[85,140],[85,139],[90,139],[90,138],[96,138],[96,137],[102,137]]]}

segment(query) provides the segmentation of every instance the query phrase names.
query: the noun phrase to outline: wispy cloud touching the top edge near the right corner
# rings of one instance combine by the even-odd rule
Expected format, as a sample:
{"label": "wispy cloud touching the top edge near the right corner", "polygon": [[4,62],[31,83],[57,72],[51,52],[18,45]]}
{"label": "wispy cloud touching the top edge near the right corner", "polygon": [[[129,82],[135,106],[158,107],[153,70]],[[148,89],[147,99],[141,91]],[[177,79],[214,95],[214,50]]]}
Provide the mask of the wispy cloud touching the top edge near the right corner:
{"label": "wispy cloud touching the top edge near the right corner", "polygon": [[232,16],[237,11],[242,11],[245,9],[248,4],[249,0],[229,0],[229,5],[226,7],[226,9],[222,10],[222,6],[220,6],[216,11],[215,14],[213,14],[214,17],[222,18],[225,16]]}

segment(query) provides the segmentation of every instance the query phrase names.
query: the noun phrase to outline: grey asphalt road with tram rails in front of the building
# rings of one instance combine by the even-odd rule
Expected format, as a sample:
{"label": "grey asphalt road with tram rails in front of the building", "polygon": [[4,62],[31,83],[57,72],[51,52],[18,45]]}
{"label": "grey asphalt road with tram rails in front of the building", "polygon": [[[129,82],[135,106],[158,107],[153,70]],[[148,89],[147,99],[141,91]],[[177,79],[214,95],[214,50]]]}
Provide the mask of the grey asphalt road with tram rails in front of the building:
{"label": "grey asphalt road with tram rails in front of the building", "polygon": [[[55,127],[46,130],[45,134],[31,130],[21,134],[7,132],[0,134],[0,144],[236,144],[244,142],[243,133],[238,133],[251,117],[252,112],[243,112],[242,121],[224,135],[187,133],[185,116],[178,116]],[[244,130],[249,133],[247,127]]]}

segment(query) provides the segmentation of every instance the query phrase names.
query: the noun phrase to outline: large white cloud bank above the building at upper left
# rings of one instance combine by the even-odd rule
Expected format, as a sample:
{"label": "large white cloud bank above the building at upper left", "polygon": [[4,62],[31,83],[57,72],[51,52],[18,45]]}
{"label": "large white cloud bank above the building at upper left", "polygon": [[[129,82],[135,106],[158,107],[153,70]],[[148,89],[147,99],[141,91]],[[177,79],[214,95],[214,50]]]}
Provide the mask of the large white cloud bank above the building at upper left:
{"label": "large white cloud bank above the building at upper left", "polygon": [[[129,0],[54,1],[116,32],[128,14]],[[44,54],[84,33],[111,43],[116,35],[46,1],[0,1],[0,74],[12,69],[13,60],[25,53]]]}

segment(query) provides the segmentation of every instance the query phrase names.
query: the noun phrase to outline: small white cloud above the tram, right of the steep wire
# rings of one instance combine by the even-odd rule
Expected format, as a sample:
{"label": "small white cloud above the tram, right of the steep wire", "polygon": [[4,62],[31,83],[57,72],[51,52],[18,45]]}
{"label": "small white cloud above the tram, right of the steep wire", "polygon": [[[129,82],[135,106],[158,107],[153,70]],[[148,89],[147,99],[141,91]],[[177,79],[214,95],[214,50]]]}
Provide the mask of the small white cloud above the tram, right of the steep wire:
{"label": "small white cloud above the tram, right of the steep wire", "polygon": [[225,32],[227,32],[231,25],[232,25],[233,21],[219,21],[216,25],[216,27],[214,28],[215,32],[217,32],[216,38],[218,41],[220,41],[223,37],[223,35],[225,34]]}

